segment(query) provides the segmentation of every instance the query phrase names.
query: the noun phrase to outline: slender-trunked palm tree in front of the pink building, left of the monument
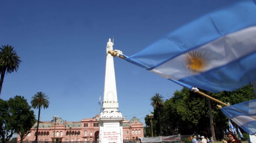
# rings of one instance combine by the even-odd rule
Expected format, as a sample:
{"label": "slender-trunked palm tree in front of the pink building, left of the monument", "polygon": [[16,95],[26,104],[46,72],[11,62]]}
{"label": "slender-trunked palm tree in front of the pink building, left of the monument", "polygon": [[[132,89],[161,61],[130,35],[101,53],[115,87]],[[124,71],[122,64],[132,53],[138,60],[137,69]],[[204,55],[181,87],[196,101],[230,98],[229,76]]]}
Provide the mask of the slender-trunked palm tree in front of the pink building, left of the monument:
{"label": "slender-trunked palm tree in front of the pink building, left of the monument", "polygon": [[41,108],[44,107],[45,108],[48,108],[49,106],[49,101],[48,101],[48,96],[45,95],[45,93],[43,92],[37,92],[33,97],[32,97],[32,100],[31,100],[31,105],[34,109],[39,109],[38,111],[38,120],[37,120],[37,132],[36,132],[36,141],[37,141],[37,135],[38,135],[38,127],[39,127],[39,119],[40,119],[40,111],[41,111]]}

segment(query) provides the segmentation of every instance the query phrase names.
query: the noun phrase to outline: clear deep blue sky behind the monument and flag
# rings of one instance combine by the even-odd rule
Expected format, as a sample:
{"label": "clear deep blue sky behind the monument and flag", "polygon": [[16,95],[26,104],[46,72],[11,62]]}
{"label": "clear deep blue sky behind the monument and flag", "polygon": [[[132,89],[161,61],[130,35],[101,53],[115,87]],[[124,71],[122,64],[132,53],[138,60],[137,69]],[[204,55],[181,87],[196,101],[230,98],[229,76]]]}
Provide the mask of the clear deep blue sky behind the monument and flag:
{"label": "clear deep blue sky behind the monument and flag", "polygon": [[[105,48],[127,56],[166,33],[235,0],[1,0],[0,45],[12,45],[23,61],[4,78],[0,98],[36,92],[49,96],[41,120],[94,117],[104,92]],[[119,111],[127,119],[153,111],[156,93],[172,97],[181,86],[114,58]],[[38,110],[34,110],[37,116]]]}

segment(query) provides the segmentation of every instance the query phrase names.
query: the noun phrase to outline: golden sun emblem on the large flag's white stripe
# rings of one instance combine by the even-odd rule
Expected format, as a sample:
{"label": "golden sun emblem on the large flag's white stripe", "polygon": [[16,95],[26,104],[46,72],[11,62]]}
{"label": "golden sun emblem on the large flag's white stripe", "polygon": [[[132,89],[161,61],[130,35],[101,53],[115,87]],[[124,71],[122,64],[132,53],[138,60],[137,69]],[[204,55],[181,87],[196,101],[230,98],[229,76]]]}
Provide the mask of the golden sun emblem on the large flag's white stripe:
{"label": "golden sun emblem on the large flag's white stripe", "polygon": [[206,68],[207,60],[198,51],[189,51],[185,55],[185,66],[192,74],[203,72]]}

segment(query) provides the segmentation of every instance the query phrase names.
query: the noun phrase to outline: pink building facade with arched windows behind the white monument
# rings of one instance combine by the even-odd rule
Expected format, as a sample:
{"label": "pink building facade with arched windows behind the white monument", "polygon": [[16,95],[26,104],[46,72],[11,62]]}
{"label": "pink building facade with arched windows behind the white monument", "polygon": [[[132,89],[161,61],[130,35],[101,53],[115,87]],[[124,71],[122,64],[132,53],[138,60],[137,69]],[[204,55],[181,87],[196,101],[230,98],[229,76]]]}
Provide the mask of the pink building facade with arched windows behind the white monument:
{"label": "pink building facade with arched windows behind the white monument", "polygon": [[[97,116],[96,116],[97,117]],[[78,122],[68,122],[62,118],[56,120],[54,126],[53,121],[40,121],[38,128],[38,141],[97,141],[99,139],[99,123],[96,117],[82,119]],[[55,128],[55,136],[54,136]],[[31,128],[31,133],[23,141],[34,141],[36,139],[37,123]],[[131,120],[123,121],[123,139],[135,141],[140,137],[144,137],[143,124],[141,121],[133,117]],[[21,138],[18,136],[18,141]]]}

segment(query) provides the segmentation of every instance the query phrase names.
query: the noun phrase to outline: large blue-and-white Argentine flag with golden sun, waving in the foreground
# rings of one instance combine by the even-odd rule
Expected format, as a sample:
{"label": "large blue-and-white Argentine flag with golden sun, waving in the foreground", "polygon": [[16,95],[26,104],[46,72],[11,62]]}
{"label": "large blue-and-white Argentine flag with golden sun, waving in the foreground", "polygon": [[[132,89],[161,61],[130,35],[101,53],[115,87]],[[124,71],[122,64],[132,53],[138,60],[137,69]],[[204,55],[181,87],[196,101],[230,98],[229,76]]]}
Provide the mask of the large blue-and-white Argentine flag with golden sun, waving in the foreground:
{"label": "large blue-and-white Argentine flag with golden sun, waving in the foreground", "polygon": [[125,57],[187,88],[240,88],[256,79],[255,1],[206,14]]}

